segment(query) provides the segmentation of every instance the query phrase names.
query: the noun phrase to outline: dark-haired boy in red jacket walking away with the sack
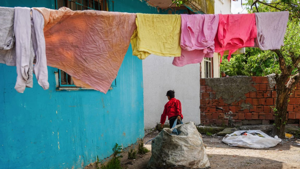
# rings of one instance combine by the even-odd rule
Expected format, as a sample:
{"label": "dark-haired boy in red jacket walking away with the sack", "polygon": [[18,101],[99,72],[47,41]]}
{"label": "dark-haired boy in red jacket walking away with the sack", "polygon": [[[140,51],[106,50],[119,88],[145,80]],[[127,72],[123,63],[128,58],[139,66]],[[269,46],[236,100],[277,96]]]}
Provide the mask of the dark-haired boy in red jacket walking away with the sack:
{"label": "dark-haired boy in red jacket walking away with the sack", "polygon": [[169,90],[166,96],[168,97],[169,101],[165,105],[164,112],[161,115],[161,127],[164,126],[166,117],[168,116],[170,128],[172,128],[176,119],[177,119],[176,125],[179,125],[180,124],[179,121],[183,119],[182,112],[181,112],[181,102],[175,98],[174,90]]}

